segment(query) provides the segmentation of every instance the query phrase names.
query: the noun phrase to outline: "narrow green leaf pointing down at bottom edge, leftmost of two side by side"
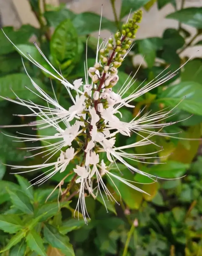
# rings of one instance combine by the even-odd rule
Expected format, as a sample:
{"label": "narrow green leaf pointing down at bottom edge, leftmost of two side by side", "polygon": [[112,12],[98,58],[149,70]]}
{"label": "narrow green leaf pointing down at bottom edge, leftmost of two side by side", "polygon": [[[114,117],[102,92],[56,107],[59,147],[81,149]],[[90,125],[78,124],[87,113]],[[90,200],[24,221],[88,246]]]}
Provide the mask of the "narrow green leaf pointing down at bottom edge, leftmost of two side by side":
{"label": "narrow green leaf pointing down at bottom edge, leftmost of two side by side", "polygon": [[35,251],[37,254],[41,256],[47,256],[45,253],[45,247],[43,244],[43,239],[40,237],[39,234],[33,229],[29,231],[26,237],[27,245],[32,251]]}

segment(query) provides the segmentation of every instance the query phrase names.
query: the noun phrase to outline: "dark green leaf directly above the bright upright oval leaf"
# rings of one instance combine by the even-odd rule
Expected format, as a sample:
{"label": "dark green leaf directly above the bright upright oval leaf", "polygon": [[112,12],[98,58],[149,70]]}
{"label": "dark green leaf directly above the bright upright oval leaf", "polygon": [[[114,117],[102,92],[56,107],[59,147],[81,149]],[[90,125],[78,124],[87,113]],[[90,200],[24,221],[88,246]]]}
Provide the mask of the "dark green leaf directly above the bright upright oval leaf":
{"label": "dark green leaf directly above the bright upright oval leaf", "polygon": [[61,9],[56,11],[46,11],[44,17],[49,26],[56,28],[61,22],[66,19],[73,20],[76,15],[69,9]]}

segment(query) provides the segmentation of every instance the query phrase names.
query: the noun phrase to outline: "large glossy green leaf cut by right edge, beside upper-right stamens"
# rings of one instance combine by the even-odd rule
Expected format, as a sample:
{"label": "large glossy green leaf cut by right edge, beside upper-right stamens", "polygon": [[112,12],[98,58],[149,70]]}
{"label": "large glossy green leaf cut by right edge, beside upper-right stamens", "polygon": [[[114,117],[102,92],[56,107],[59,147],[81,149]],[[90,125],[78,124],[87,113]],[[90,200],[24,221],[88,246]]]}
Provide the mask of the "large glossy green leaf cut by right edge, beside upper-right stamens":
{"label": "large glossy green leaf cut by right edge, beside upper-right stamens", "polygon": [[178,109],[185,110],[189,113],[202,115],[202,86],[196,82],[181,82],[168,87],[159,95],[159,99],[167,106],[175,107],[183,97],[186,97],[177,106]]}

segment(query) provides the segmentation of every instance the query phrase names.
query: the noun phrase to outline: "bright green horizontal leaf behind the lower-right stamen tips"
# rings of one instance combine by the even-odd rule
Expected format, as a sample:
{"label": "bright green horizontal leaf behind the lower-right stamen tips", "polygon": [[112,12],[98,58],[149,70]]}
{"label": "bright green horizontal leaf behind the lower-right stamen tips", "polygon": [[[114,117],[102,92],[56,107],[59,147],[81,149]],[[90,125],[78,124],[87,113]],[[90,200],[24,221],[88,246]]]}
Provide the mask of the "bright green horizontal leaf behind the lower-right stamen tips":
{"label": "bright green horizontal leaf behind the lower-right stamen tips", "polygon": [[145,172],[160,178],[180,178],[188,168],[188,164],[168,161],[165,164],[154,164],[149,169],[143,169]]}

